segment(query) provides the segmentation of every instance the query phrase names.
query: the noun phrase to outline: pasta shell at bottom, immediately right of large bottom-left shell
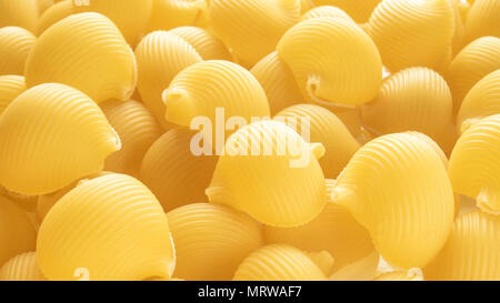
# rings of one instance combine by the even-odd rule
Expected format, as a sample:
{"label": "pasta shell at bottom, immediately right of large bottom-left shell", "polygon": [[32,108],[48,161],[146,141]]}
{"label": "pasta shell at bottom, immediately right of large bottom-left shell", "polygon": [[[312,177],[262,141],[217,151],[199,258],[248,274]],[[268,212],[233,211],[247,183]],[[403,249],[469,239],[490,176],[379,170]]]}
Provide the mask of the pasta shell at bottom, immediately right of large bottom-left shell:
{"label": "pasta shell at bottom, immediately right of large bottom-left shell", "polygon": [[223,205],[196,203],[167,213],[176,245],[176,271],[186,280],[231,280],[262,244],[258,222]]}

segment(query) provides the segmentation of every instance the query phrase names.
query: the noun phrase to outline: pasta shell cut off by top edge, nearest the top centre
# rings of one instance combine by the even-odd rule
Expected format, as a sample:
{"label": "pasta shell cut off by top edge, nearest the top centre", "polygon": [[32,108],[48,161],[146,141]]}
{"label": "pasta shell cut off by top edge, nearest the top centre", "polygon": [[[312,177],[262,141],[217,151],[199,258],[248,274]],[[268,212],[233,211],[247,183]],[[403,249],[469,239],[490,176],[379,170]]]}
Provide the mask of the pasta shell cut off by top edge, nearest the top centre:
{"label": "pasta shell cut off by top edge, nearest the top centre", "polygon": [[246,68],[272,52],[300,19],[300,0],[210,0],[210,24]]}

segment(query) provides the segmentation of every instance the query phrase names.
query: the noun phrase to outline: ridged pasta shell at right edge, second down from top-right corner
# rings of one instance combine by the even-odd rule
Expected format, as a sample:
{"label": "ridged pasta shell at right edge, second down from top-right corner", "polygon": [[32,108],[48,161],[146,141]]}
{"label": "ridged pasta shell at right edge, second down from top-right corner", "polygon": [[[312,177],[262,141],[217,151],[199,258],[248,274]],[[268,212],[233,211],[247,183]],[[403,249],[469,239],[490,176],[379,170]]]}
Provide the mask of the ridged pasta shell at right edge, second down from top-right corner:
{"label": "ridged pasta shell at right edge, second down from top-right corner", "polygon": [[500,69],[500,39],[483,37],[464,47],[454,57],[446,74],[457,113],[470,89],[488,73]]}

